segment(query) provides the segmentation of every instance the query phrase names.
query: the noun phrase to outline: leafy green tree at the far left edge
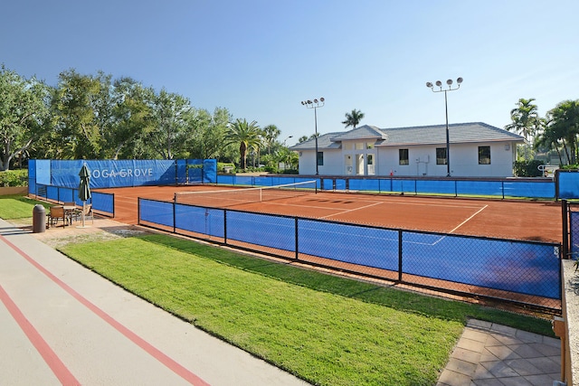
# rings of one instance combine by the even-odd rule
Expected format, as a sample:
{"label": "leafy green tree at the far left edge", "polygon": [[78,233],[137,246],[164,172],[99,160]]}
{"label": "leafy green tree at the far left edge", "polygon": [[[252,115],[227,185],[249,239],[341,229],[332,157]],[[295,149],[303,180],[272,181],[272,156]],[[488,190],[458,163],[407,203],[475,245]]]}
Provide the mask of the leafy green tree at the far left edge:
{"label": "leafy green tree at the far left edge", "polygon": [[25,80],[0,66],[0,170],[8,170],[15,155],[23,154],[48,122],[49,89],[35,79]]}

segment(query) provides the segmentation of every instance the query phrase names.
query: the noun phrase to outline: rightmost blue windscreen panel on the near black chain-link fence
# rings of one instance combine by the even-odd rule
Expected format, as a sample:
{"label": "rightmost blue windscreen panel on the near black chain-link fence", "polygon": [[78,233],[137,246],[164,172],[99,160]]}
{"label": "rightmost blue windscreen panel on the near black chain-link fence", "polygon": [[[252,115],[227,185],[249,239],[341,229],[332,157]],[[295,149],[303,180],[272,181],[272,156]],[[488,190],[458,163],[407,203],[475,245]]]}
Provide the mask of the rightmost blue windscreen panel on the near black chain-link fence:
{"label": "rightmost blue windscreen panel on the near black chain-link fence", "polygon": [[559,298],[553,245],[403,232],[403,271],[479,287]]}

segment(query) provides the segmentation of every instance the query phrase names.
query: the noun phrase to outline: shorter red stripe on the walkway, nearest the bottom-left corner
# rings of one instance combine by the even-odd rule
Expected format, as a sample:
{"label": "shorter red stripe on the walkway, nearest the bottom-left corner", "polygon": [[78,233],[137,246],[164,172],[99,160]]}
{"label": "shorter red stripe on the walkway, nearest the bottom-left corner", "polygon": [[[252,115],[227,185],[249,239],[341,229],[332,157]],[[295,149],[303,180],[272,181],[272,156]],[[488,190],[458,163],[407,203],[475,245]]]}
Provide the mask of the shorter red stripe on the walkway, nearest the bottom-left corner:
{"label": "shorter red stripe on the walkway, nearest the bottom-left corner", "polygon": [[62,363],[56,353],[52,351],[51,346],[46,343],[43,336],[39,334],[28,319],[26,319],[26,316],[24,316],[20,308],[16,306],[2,286],[0,286],[0,300],[2,300],[8,312],[14,317],[16,323],[20,325],[20,328],[28,337],[30,343],[36,348],[36,351],[41,354],[44,362],[48,364],[48,367],[51,368],[56,378],[58,378],[63,385],[80,385],[81,382],[74,378],[74,375],[72,375],[69,369]]}

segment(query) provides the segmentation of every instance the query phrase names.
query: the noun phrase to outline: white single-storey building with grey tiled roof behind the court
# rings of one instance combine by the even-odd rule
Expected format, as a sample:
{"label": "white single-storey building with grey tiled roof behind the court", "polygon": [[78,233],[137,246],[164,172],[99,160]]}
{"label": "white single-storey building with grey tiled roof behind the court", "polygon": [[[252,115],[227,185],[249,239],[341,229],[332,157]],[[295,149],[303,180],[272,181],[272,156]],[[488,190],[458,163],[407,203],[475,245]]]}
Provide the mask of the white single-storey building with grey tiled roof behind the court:
{"label": "white single-storey building with grey tiled roof behind the court", "polygon": [[510,177],[525,138],[485,123],[378,128],[356,127],[289,147],[299,152],[299,174]]}

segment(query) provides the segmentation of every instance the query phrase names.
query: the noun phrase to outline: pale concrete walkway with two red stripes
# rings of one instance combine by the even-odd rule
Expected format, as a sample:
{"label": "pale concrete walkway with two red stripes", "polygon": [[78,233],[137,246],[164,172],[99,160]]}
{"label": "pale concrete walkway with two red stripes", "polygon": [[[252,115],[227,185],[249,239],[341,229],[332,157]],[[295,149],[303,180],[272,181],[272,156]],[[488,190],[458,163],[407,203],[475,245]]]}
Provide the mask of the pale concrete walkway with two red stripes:
{"label": "pale concrete walkway with two red stripes", "polygon": [[307,384],[129,294],[3,220],[0,325],[3,385]]}

